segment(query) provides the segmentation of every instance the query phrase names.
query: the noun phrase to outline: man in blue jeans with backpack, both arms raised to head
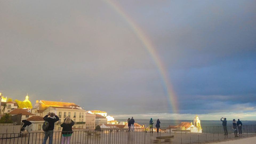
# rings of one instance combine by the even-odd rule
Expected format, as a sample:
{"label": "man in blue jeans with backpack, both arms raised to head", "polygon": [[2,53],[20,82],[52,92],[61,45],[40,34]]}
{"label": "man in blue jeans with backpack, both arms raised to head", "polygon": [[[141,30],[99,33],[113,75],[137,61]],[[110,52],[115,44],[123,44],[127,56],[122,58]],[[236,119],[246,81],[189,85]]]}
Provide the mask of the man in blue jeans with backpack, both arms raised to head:
{"label": "man in blue jeans with backpack, both arms raised to head", "polygon": [[46,144],[48,137],[49,137],[49,144],[52,144],[54,123],[59,121],[59,117],[55,115],[55,113],[48,113],[47,115],[45,115],[45,117],[43,117],[43,120],[49,122],[48,129],[47,131],[45,131],[45,137],[43,138],[43,144]]}

